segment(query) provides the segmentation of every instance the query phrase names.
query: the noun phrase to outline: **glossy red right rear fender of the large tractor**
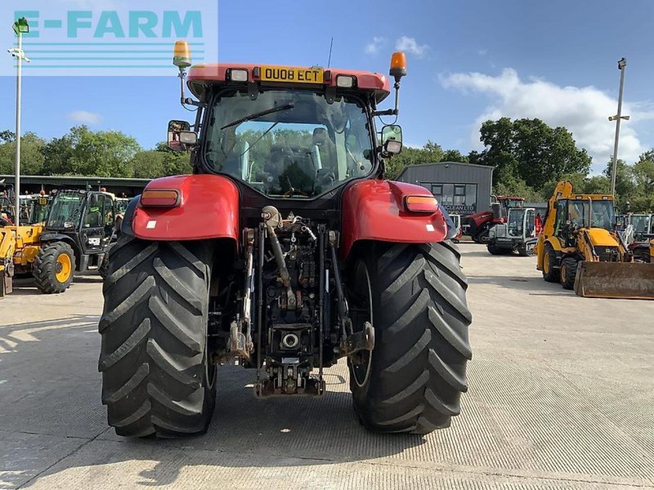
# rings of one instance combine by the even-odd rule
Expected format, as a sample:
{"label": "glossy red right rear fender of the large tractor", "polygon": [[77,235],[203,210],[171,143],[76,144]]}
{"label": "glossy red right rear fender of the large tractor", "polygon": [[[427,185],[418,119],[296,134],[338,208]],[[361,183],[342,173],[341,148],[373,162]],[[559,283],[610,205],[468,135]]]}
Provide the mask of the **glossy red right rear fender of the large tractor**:
{"label": "glossy red right rear fender of the large tractor", "polygon": [[441,209],[432,214],[410,212],[407,196],[428,196],[421,186],[388,180],[360,180],[343,193],[341,257],[347,259],[358,240],[397,243],[442,242],[447,223]]}

